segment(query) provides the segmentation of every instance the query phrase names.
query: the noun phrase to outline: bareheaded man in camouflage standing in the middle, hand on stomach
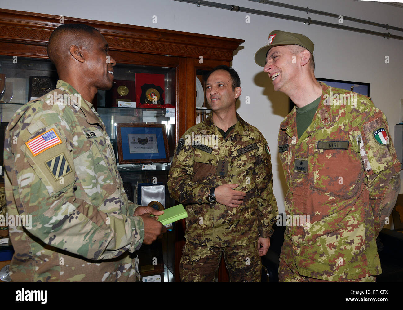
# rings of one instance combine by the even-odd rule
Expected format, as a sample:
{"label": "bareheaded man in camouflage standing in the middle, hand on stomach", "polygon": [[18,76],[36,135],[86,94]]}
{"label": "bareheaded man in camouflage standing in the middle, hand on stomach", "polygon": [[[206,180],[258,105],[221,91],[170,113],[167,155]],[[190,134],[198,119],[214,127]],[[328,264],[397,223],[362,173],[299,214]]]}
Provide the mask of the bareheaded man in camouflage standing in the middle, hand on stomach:
{"label": "bareheaded man in camouflage standing in the middle, hand on stomach", "polygon": [[172,161],[170,195],[189,215],[182,281],[214,281],[222,253],[231,281],[260,281],[260,256],[278,212],[268,144],[235,112],[240,84],[227,66],[209,73],[206,98],[213,112],[185,132]]}

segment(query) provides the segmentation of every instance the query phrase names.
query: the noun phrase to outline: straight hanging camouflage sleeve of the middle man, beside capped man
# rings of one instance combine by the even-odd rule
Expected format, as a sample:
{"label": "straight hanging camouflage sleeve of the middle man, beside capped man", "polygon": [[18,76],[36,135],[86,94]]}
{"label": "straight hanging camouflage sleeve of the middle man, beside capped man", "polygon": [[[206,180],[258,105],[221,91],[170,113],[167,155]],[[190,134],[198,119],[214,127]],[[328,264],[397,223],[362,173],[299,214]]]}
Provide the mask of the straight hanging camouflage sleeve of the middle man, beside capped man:
{"label": "straight hanging camouflage sleeve of the middle man, beside capped man", "polygon": [[276,198],[273,193],[273,172],[270,161],[270,150],[265,139],[255,158],[254,182],[258,202],[259,237],[270,237],[274,230],[273,224],[278,215]]}

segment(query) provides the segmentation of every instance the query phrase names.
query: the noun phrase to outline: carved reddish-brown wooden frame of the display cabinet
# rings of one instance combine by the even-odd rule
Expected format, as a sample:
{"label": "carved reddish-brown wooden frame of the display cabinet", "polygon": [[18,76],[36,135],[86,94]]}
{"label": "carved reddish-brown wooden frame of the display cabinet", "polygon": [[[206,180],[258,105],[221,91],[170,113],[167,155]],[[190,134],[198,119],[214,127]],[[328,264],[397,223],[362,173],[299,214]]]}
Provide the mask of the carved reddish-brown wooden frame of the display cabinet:
{"label": "carved reddish-brown wooden frame of the display cabinet", "polygon": [[[200,77],[217,65],[229,65],[234,50],[244,42],[244,40],[225,37],[71,17],[64,17],[64,23],[90,25],[104,35],[109,44],[110,56],[117,63],[115,79],[134,81],[132,73],[137,72],[164,74],[165,103],[175,107],[174,122],[171,122],[173,133],[171,131],[172,139],[169,146],[172,149],[186,129],[195,125],[197,114],[200,116],[200,114],[208,112],[206,110],[196,112],[195,109],[196,74]],[[28,85],[29,76],[57,75],[48,60],[46,46],[50,34],[59,25],[61,25],[60,17],[56,15],[0,10],[0,62],[4,62],[4,65],[0,66],[0,74],[6,74],[6,81],[11,78],[27,79],[26,85]],[[16,65],[15,70],[8,70],[7,65],[14,63],[13,61],[16,59],[17,63],[26,64],[27,67],[21,68]],[[31,64],[33,67],[29,68]],[[10,121],[13,111],[15,112],[24,103],[24,101],[0,103],[1,122]],[[113,125],[116,119],[120,122],[127,120],[130,123],[133,121],[133,115],[143,116],[145,112],[153,111],[153,109],[141,108],[108,108],[104,92],[98,92],[95,104],[106,127],[109,126],[108,134],[111,139],[115,138]],[[154,115],[158,119],[158,113],[161,113],[161,110],[154,110],[156,110]],[[164,111],[162,111],[163,113]],[[161,117],[163,117],[162,114]],[[202,117],[205,118],[205,116]],[[156,174],[166,182],[169,165],[162,164],[157,169]],[[129,169],[121,167],[120,174],[123,181],[129,180],[133,187],[135,187],[136,179],[138,182],[139,179],[148,180],[152,175],[150,171],[141,171],[135,165]],[[170,201],[168,197],[167,206],[173,204],[174,202]],[[174,232],[168,233],[166,238],[171,240],[167,242],[171,243],[172,248],[169,244],[168,248],[164,248],[164,256],[168,256],[168,260],[174,260],[172,266],[168,267],[172,267],[170,271],[176,281],[180,281],[179,260],[185,244],[184,232],[185,221],[177,222]],[[166,252],[171,252],[172,255],[166,255]],[[223,266],[221,266],[220,275],[220,281],[228,280],[226,269]]]}

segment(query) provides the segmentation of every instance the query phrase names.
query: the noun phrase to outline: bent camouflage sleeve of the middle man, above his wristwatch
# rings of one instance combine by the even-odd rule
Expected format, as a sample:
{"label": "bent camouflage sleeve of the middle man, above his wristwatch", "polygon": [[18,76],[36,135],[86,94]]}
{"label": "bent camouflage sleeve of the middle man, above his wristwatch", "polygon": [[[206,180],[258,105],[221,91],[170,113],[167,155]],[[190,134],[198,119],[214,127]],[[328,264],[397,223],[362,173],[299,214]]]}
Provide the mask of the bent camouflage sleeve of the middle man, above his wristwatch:
{"label": "bent camouflage sleeve of the middle man, above his wristwatch", "polygon": [[208,203],[206,194],[210,192],[211,187],[192,181],[194,164],[192,147],[185,144],[178,151],[178,148],[175,148],[175,155],[169,169],[168,190],[170,196],[181,204]]}

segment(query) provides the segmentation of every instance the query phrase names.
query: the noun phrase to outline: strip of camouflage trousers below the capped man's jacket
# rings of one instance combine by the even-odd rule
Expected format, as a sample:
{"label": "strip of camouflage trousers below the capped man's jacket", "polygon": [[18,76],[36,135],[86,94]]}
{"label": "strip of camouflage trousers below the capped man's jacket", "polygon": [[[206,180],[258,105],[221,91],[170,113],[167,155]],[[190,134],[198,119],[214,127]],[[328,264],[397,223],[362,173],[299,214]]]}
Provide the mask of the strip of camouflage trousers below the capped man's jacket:
{"label": "strip of camouflage trousers below the capped man's jacket", "polygon": [[338,279],[337,281],[329,281],[301,276],[298,274],[297,270],[297,267],[295,267],[293,271],[285,261],[280,258],[280,264],[278,266],[278,282],[375,282],[376,280],[376,277],[369,276],[353,280]]}

